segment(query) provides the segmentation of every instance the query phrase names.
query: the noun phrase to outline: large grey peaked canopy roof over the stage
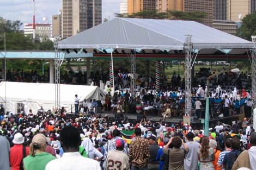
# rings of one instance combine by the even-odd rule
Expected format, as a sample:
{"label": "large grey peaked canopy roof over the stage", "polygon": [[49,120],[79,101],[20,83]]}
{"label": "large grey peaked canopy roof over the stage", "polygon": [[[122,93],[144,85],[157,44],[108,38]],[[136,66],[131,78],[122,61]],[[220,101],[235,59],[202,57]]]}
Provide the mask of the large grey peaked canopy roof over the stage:
{"label": "large grey peaked canopy roof over the stage", "polygon": [[58,42],[58,48],[184,49],[192,35],[194,49],[254,48],[253,42],[194,21],[114,18]]}

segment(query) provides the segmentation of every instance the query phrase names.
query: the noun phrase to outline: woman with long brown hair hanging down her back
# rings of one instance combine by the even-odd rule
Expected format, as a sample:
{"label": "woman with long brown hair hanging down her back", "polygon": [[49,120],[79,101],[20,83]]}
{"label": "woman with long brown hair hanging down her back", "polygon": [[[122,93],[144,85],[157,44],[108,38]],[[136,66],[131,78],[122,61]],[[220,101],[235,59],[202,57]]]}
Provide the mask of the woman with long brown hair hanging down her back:
{"label": "woman with long brown hair hanging down her back", "polygon": [[214,148],[209,146],[209,137],[202,138],[201,148],[197,150],[201,170],[214,170],[212,161],[215,160]]}

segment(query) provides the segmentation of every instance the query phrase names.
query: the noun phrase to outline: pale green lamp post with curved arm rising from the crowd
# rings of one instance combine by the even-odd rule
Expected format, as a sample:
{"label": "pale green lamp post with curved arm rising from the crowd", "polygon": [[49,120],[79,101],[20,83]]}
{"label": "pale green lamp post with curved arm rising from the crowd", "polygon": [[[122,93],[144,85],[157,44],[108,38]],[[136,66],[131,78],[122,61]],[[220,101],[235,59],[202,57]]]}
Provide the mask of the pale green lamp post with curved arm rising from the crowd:
{"label": "pale green lamp post with curved arm rising from the crowd", "polygon": [[206,97],[206,106],[205,106],[205,121],[204,121],[204,135],[205,136],[209,136],[209,97],[210,97],[210,93],[209,93],[209,87],[210,87],[210,79],[213,77],[216,77],[217,75],[220,75],[222,73],[227,73],[227,72],[233,72],[233,73],[237,73],[240,72],[239,68],[234,68],[231,70],[224,70],[215,74],[210,75],[207,78],[207,97]]}

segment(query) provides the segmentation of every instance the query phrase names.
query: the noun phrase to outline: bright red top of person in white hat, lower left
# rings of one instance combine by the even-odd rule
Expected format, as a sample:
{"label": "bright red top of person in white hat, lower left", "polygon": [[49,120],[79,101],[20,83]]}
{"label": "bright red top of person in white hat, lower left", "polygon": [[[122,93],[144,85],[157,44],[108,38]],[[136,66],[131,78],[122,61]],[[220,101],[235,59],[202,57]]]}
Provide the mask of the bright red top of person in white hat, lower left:
{"label": "bright red top of person in white hat, lower left", "polygon": [[[10,148],[10,167],[12,170],[20,170],[20,163],[23,157],[23,145],[22,144],[14,144],[13,147]],[[26,147],[26,156],[29,154],[29,148]]]}

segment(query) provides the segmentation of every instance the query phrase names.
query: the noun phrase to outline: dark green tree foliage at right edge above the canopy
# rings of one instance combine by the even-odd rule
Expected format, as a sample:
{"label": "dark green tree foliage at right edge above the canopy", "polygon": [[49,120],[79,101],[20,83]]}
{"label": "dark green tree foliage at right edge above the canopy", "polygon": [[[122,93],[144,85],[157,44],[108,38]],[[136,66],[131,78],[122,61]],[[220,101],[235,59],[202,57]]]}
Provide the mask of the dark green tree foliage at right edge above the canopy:
{"label": "dark green tree foliage at right edge above the canopy", "polygon": [[238,31],[238,36],[249,41],[252,35],[256,35],[256,12],[242,18],[242,26]]}

